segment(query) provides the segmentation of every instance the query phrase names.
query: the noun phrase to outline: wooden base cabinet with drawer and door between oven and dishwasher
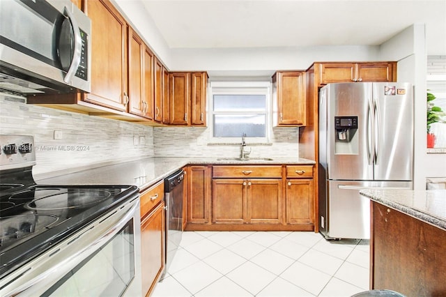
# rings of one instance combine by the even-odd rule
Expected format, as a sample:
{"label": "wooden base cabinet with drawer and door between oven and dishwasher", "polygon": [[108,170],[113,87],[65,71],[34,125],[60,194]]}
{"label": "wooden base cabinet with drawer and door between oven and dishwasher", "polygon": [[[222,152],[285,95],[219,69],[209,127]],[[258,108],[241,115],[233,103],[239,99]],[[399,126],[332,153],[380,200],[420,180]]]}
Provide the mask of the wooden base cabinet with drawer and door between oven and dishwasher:
{"label": "wooden base cabinet with drawer and door between oven and dishwasher", "polygon": [[142,291],[150,296],[165,262],[164,181],[141,193],[140,199]]}

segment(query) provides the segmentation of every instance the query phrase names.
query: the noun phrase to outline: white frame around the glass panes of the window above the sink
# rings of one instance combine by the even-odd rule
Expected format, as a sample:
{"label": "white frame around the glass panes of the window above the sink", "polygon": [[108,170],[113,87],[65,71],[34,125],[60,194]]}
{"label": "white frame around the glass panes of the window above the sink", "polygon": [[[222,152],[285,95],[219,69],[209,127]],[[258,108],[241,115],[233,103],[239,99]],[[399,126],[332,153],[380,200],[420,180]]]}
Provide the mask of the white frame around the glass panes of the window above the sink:
{"label": "white frame around the glass panes of the window above the sink", "polygon": [[271,82],[268,81],[213,81],[209,84],[209,143],[210,144],[240,144],[241,137],[214,137],[214,115],[228,114],[227,112],[214,111],[214,95],[264,95],[266,96],[266,107],[264,112],[233,112],[231,114],[265,114],[265,137],[249,137],[246,140],[250,144],[269,144],[270,130],[272,129],[271,116]]}

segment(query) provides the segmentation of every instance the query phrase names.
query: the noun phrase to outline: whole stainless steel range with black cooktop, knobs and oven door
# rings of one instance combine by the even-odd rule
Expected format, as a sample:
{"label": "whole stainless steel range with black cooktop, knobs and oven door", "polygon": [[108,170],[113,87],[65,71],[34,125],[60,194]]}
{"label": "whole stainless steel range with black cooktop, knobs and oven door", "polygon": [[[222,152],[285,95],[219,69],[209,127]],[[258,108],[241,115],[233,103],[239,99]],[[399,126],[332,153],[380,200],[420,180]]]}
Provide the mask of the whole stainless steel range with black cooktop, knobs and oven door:
{"label": "whole stainless steel range with black cooktop, knobs and oven door", "polygon": [[0,144],[0,296],[141,296],[137,187],[38,185],[33,137]]}

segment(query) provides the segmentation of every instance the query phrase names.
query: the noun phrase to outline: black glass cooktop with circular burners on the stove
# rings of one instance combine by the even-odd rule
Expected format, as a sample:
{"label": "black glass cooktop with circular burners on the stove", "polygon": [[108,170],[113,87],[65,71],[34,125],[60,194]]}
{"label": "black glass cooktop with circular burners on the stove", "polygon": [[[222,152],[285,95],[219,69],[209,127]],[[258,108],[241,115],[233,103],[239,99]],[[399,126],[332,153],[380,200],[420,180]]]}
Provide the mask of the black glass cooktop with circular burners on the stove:
{"label": "black glass cooktop with circular burners on the stove", "polygon": [[138,193],[130,185],[0,187],[0,276]]}

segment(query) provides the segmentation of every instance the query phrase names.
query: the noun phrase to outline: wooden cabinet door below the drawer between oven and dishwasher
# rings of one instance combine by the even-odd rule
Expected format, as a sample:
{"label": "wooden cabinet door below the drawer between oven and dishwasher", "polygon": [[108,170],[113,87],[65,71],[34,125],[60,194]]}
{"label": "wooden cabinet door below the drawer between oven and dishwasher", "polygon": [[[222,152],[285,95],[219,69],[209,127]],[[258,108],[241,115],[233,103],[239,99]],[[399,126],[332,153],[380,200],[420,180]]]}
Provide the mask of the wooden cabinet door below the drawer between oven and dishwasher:
{"label": "wooden cabinet door below the drawer between oven and dishwasher", "polygon": [[141,220],[141,279],[143,294],[151,291],[164,269],[164,201]]}

